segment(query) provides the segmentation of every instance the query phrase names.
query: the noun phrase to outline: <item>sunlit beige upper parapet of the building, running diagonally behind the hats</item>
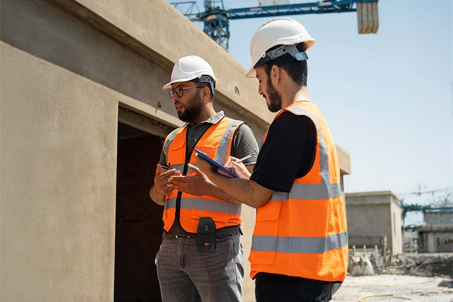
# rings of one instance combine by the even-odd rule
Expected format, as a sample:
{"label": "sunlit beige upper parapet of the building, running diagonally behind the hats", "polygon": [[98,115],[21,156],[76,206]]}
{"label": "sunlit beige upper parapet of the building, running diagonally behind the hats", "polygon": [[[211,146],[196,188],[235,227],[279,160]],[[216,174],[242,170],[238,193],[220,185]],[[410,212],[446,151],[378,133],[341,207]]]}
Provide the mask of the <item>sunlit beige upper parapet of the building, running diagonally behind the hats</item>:
{"label": "sunlit beige upper parapet of the building, running diagonally behind the hats", "polygon": [[[242,111],[247,119],[255,120],[264,128],[275,116],[267,110],[264,99],[258,95],[257,80],[245,78],[246,67],[165,0],[54,2],[76,12],[88,22],[97,24],[119,40],[134,45],[137,51],[153,56],[157,62],[170,69],[183,56],[201,56],[211,64],[219,79],[218,101],[236,111]],[[74,8],[72,3],[77,3],[83,9]],[[104,22],[93,21],[83,10],[93,12]],[[114,28],[108,24],[114,25]],[[248,51],[248,46],[245,46],[244,51]],[[239,95],[235,93],[235,88],[239,90]]]}

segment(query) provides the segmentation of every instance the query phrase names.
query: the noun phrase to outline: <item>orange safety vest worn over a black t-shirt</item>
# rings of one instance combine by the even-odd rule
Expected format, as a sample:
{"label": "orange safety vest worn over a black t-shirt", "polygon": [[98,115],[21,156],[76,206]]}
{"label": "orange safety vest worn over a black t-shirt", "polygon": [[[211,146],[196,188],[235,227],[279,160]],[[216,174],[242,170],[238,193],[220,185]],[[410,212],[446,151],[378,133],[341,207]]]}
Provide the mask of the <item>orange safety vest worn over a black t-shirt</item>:
{"label": "orange safety vest worn over a black t-shirt", "polygon": [[307,175],[294,180],[289,193],[274,192],[257,209],[250,277],[266,272],[343,281],[348,260],[347,225],[334,139],[314,103],[295,102],[275,119],[285,111],[308,116],[316,125],[315,161]]}

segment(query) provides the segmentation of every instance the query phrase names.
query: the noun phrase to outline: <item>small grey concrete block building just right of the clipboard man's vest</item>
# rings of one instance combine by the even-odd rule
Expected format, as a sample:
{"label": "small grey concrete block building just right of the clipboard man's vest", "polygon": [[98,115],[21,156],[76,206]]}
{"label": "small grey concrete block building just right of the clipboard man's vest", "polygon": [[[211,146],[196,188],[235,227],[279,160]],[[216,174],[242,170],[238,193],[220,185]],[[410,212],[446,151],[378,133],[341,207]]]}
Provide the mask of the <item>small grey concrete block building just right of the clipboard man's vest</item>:
{"label": "small grey concrete block building just right of the clipboard man's vest", "polygon": [[[347,193],[349,247],[385,245],[391,255],[402,254],[401,202],[391,191]],[[384,242],[386,238],[386,243]]]}

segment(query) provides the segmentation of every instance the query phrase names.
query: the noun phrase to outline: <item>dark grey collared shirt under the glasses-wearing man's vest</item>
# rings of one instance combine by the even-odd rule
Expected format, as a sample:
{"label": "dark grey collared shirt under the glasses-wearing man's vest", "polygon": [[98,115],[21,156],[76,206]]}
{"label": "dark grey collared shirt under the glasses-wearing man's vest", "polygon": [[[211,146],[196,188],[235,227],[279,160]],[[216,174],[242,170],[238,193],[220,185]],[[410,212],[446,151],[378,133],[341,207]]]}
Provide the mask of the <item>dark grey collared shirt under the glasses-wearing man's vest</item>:
{"label": "dark grey collared shirt under the glasses-wearing man's vest", "polygon": [[[218,123],[225,115],[223,111],[217,112],[215,115],[211,116],[204,122],[199,123],[198,125],[189,123],[187,125],[187,147],[188,149],[193,149],[197,141],[201,136],[206,132],[207,129],[213,124]],[[244,165],[255,165],[256,159],[258,157],[258,143],[256,142],[255,135],[253,134],[252,129],[246,124],[239,126],[236,129],[233,143],[231,146],[231,156],[241,159],[249,154],[255,154],[254,156],[244,160]],[[164,151],[161,152],[161,158],[159,164],[162,166],[167,166],[167,159],[164,154]],[[181,171],[182,172],[182,171]],[[179,219],[179,215],[177,216]],[[176,222],[176,221],[175,221]],[[179,222],[179,221],[178,221]],[[172,228],[168,232],[171,235],[187,235],[189,233],[182,230],[179,223],[173,223]]]}

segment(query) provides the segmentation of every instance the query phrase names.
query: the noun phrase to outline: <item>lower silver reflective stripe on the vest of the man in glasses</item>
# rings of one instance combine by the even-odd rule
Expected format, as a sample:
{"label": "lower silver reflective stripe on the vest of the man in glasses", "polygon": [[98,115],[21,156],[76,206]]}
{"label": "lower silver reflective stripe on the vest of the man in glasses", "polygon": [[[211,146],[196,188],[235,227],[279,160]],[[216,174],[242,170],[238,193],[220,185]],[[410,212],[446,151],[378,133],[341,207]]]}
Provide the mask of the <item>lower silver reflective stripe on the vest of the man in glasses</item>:
{"label": "lower silver reflective stripe on the vest of the man in glasses", "polygon": [[[167,199],[165,209],[176,208],[176,197]],[[241,204],[203,198],[181,198],[182,209],[197,209],[241,215]]]}

